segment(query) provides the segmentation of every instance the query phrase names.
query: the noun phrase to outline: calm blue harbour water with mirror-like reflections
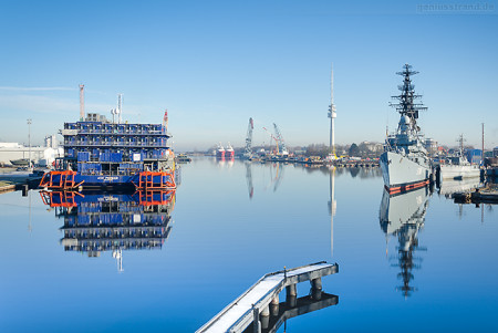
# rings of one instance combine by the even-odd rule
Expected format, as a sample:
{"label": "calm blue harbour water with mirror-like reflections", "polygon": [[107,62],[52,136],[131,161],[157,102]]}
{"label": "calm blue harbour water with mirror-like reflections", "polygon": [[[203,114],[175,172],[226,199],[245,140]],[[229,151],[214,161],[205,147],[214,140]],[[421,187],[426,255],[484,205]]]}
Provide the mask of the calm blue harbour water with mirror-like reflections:
{"label": "calm blue harbour water with mirror-like reflections", "polygon": [[[498,331],[496,206],[425,189],[390,198],[378,169],[208,158],[184,166],[166,199],[87,195],[64,212],[38,191],[0,195],[0,332],[193,332],[264,273],[322,260],[340,266],[323,278],[339,304],[287,332]],[[102,211],[146,232],[126,244],[111,235],[128,248],[122,267],[118,251],[68,240],[76,218],[120,216]]]}

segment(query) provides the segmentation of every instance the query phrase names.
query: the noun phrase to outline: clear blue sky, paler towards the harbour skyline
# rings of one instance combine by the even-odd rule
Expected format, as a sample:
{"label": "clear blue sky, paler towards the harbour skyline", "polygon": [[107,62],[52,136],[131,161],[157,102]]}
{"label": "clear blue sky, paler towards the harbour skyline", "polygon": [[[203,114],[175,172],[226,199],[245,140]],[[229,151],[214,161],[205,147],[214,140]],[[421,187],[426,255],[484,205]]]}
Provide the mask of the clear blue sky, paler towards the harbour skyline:
{"label": "clear blue sky, paler towards the harbour skyline", "polygon": [[25,143],[27,118],[37,144],[76,121],[83,83],[87,112],[110,117],[117,93],[128,122],[160,123],[167,108],[176,149],[241,146],[249,117],[255,144],[272,123],[288,145],[328,143],[333,63],[336,143],[383,142],[409,63],[426,136],[480,147],[485,123],[498,146],[498,1],[0,6],[0,141]]}

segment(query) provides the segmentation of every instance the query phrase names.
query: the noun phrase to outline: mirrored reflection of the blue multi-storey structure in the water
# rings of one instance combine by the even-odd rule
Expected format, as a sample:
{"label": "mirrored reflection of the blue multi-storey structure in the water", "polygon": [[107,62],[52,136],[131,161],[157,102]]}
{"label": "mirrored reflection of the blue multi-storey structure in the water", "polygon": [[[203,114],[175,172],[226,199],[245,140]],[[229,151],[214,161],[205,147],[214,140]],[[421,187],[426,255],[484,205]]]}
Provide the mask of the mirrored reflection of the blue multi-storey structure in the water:
{"label": "mirrored reflection of the blue multi-storey structure in the water", "polygon": [[65,251],[100,257],[112,251],[123,271],[123,250],[160,249],[172,229],[175,190],[135,194],[41,191],[45,205],[64,220]]}

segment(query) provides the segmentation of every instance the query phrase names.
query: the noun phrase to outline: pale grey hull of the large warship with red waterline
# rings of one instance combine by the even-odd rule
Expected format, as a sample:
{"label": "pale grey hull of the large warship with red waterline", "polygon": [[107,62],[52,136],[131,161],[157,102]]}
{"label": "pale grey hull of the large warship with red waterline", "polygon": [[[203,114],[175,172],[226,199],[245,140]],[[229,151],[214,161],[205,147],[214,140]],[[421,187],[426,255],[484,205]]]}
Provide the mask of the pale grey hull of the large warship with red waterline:
{"label": "pale grey hull of the large warship with red waterline", "polygon": [[[390,194],[412,190],[429,183],[429,166],[416,159],[393,152],[381,155],[382,177]],[[424,158],[421,157],[421,159]]]}

